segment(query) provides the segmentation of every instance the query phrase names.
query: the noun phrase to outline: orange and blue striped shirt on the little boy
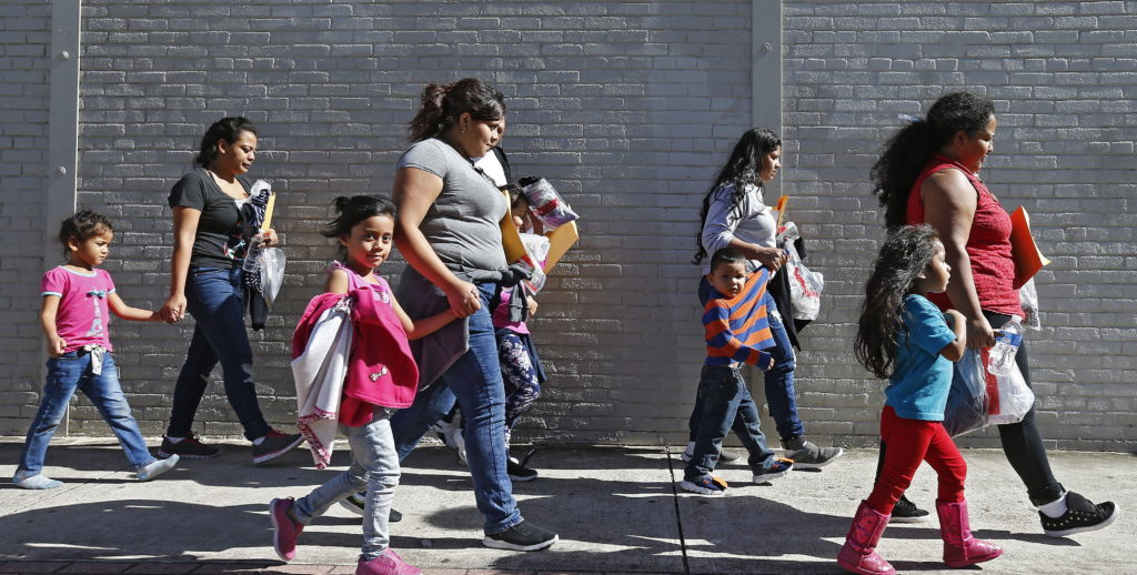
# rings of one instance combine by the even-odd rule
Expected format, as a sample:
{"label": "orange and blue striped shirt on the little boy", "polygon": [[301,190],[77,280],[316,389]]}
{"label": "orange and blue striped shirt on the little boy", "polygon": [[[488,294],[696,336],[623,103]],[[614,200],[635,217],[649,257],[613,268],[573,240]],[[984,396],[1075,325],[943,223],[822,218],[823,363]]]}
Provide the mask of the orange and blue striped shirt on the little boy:
{"label": "orange and blue striped shirt on the little boy", "polygon": [[750,274],[742,291],[733,298],[711,292],[703,308],[706,365],[731,366],[738,361],[763,368],[770,365],[770,353],[762,351],[774,347],[763,303],[769,281],[770,270],[762,267]]}

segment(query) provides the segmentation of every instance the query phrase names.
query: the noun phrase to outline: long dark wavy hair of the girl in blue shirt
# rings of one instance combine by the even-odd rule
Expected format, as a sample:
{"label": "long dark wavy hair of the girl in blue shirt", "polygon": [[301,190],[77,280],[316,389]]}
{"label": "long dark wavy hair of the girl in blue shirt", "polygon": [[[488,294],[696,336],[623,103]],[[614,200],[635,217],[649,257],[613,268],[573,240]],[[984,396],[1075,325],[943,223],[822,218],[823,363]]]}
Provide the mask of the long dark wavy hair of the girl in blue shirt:
{"label": "long dark wavy hair of the girl in blue shirt", "polygon": [[931,264],[938,239],[936,230],[927,224],[901,226],[893,228],[880,247],[864,286],[865,299],[853,340],[857,360],[877,377],[888,377],[896,368],[898,336],[901,330],[906,330],[902,317],[904,298]]}

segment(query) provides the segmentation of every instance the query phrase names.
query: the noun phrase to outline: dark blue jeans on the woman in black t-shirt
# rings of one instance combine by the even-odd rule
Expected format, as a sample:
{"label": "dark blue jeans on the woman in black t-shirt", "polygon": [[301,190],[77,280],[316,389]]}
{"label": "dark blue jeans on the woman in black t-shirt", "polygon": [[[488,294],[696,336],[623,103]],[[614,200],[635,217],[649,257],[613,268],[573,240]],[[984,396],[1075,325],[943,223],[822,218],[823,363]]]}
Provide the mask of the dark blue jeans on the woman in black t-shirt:
{"label": "dark blue jeans on the woman in black t-shirt", "polygon": [[197,325],[174,385],[174,408],[166,435],[184,438],[190,434],[198,405],[209,386],[209,373],[221,361],[225,397],[244,427],[244,438],[265,436],[272,427],[260,414],[252,383],[252,347],[244,331],[241,269],[190,268],[185,299]]}

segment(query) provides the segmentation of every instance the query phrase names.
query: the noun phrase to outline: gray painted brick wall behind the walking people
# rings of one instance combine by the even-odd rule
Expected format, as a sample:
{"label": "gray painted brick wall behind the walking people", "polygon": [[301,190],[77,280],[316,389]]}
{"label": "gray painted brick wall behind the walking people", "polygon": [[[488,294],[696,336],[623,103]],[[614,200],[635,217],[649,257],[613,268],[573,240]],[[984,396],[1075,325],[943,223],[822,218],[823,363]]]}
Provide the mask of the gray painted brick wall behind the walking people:
{"label": "gray painted brick wall behind the walking people", "polygon": [[[550,382],[522,433],[678,441],[702,363],[688,264],[698,203],[749,127],[752,95],[762,101],[750,93],[750,6],[89,0],[80,205],[116,218],[108,269],[123,297],[157,306],[171,245],[166,192],[205,125],[227,114],[258,123],[254,174],[281,192],[291,261],[279,314],[255,336],[256,373],[271,419],[285,423],[294,407],[288,339],[333,255],[316,234],[327,203],[389,191],[424,83],[483,77],[508,98],[515,173],[549,177],[584,217],[584,238],[533,322]],[[1039,277],[1044,307],[1055,311],[1032,339],[1044,433],[1064,448],[1134,443],[1135,13],[1134,2],[785,2],[783,188],[828,281],[824,314],[799,358],[802,415],[819,440],[870,444],[875,433],[879,383],[848,343],[866,253],[880,238],[868,168],[897,113],[922,114],[945,90],[980,84],[1001,120],[985,178],[1007,206],[1031,210],[1055,259]],[[6,160],[2,169],[14,168]],[[7,185],[3,194],[8,217]],[[26,273],[38,277],[38,264]],[[22,290],[34,299],[28,282],[9,280],[9,265],[5,255],[3,298]],[[397,277],[399,267],[388,267]],[[35,350],[25,299],[0,300],[0,309],[26,332],[20,345]],[[144,430],[157,433],[190,325],[115,330],[124,386]],[[25,391],[34,389],[33,356],[8,369],[28,373]],[[34,401],[25,395],[16,399]],[[102,433],[90,409],[75,414],[86,420],[73,430]],[[200,420],[207,434],[239,432],[219,381]],[[26,426],[2,422],[5,433]]]}

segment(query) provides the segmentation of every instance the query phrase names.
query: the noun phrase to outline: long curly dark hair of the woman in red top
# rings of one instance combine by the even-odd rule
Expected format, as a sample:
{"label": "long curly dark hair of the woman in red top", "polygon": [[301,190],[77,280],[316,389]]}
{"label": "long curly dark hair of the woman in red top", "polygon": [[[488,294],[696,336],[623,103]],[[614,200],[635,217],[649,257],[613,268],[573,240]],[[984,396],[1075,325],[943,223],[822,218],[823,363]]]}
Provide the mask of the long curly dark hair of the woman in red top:
{"label": "long curly dark hair of the woman in red top", "polygon": [[928,118],[904,126],[885,144],[872,166],[872,193],[885,207],[885,225],[903,225],[908,193],[932,156],[961,130],[969,136],[985,128],[995,114],[995,102],[974,92],[952,92],[928,110]]}

